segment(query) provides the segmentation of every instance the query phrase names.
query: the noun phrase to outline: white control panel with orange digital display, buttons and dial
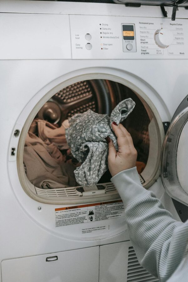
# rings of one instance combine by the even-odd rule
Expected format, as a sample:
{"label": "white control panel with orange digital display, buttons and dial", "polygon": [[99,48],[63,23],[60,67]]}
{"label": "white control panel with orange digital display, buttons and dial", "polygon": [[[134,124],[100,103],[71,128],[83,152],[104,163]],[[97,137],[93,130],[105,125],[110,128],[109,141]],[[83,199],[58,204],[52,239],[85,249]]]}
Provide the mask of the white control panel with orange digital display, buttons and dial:
{"label": "white control panel with orange digital display, buttons and dial", "polygon": [[72,59],[188,59],[188,19],[70,15]]}

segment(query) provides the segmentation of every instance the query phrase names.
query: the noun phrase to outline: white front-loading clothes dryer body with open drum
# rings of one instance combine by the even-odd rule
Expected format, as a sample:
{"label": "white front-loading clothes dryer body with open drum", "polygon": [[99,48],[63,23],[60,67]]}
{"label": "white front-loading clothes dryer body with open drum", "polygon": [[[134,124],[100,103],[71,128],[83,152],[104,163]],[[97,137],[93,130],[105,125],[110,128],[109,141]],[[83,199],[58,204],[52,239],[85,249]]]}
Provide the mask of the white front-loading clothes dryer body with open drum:
{"label": "white front-loading clothes dryer body with open drum", "polygon": [[170,196],[188,203],[181,175],[186,10],[179,8],[175,21],[159,7],[105,3],[1,1],[0,11],[0,280],[158,281],[138,263],[108,172],[89,189],[44,189],[29,179],[24,148],[34,121],[58,128],[88,109],[110,114],[131,97],[136,106],[124,125],[142,164],[141,183],[180,220],[183,209],[176,211]]}

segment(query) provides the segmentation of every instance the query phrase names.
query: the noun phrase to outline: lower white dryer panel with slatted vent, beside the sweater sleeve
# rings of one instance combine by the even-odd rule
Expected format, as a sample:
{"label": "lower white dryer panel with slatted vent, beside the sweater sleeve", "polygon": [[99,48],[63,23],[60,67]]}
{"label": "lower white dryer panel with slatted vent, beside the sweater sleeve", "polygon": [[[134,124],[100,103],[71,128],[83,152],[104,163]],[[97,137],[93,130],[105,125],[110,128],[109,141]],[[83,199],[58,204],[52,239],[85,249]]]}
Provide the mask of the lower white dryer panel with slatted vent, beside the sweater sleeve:
{"label": "lower white dryer panel with slatted vent, beside the sweater sleeve", "polygon": [[130,241],[100,247],[99,282],[152,281],[151,275],[138,262]]}

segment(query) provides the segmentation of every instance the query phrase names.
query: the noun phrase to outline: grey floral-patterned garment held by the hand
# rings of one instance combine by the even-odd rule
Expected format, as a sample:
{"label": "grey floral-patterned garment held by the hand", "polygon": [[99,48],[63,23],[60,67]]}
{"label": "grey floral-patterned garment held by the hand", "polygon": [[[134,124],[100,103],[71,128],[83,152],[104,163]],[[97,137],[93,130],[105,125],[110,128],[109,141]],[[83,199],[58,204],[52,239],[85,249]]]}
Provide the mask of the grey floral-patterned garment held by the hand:
{"label": "grey floral-patterned garment held by the hand", "polygon": [[69,119],[70,127],[65,129],[65,136],[73,156],[82,163],[74,171],[80,185],[96,185],[107,170],[108,145],[105,138],[109,136],[118,149],[111,124],[113,121],[121,123],[134,106],[135,102],[128,98],[114,108],[110,118],[88,110]]}

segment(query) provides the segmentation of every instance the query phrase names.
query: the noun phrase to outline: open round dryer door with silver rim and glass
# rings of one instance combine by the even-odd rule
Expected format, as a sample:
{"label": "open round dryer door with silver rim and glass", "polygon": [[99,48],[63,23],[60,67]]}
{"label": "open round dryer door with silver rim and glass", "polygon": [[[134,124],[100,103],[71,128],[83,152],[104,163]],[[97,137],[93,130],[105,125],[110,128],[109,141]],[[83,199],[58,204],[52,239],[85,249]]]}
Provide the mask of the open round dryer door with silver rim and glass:
{"label": "open round dryer door with silver rim and glass", "polygon": [[175,112],[161,154],[161,179],[167,193],[188,206],[187,97]]}

